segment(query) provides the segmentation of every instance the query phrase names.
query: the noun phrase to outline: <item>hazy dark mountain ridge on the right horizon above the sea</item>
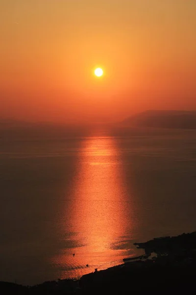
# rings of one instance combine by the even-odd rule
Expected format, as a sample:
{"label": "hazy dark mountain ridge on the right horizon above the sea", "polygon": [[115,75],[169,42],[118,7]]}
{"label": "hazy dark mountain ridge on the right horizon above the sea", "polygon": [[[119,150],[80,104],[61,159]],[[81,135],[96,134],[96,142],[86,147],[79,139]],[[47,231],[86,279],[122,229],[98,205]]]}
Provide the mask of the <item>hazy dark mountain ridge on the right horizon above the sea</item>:
{"label": "hazy dark mountain ridge on the right horizon above the sea", "polygon": [[149,110],[126,118],[122,123],[138,127],[196,129],[196,111]]}

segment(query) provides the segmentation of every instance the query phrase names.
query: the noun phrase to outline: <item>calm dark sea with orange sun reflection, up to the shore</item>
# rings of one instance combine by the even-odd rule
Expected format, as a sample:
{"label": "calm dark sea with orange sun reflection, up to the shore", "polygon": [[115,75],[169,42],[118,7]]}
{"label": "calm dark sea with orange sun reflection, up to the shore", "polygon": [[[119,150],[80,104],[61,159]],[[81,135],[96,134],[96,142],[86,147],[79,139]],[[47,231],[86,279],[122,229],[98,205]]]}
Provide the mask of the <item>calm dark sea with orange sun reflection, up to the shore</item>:
{"label": "calm dark sea with orange sun reflection, up to the shore", "polygon": [[195,212],[196,131],[0,140],[0,280],[118,265],[135,241],[196,230]]}

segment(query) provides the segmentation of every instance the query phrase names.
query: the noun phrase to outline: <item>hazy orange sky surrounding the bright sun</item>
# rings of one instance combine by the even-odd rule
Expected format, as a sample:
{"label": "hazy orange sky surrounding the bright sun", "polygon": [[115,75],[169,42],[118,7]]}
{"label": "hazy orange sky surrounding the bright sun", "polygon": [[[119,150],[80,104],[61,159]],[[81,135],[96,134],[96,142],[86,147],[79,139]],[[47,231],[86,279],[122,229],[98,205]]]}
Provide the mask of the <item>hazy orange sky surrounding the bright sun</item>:
{"label": "hazy orange sky surrounding the bright sun", "polygon": [[0,117],[196,109],[195,15],[196,0],[0,0]]}

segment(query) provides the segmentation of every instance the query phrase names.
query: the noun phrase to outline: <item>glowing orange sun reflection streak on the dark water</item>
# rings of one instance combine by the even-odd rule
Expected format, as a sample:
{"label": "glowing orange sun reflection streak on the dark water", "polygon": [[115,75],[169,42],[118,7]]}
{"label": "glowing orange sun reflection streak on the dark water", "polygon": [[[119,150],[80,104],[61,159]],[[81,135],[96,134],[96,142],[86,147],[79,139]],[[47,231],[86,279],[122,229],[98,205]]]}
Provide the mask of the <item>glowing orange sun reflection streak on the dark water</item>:
{"label": "glowing orange sun reflection streak on the dark water", "polygon": [[132,232],[134,218],[127,209],[123,173],[114,138],[83,141],[70,205],[64,209],[66,217],[62,220],[62,235],[69,229],[67,241],[71,247],[55,259],[55,264],[64,269],[61,278],[114,266],[127,256],[127,248],[122,245]]}

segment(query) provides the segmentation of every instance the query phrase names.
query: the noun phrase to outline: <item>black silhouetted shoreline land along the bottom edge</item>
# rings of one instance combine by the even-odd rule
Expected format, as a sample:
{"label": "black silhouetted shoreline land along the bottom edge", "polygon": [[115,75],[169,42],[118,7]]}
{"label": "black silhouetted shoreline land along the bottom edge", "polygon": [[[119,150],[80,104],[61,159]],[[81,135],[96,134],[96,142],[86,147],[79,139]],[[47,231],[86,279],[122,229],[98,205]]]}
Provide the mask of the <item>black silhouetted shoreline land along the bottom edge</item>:
{"label": "black silhouetted shoreline land along the bottom edge", "polygon": [[[0,282],[0,294],[195,294],[196,232],[136,243],[145,255],[125,259],[120,266],[82,276],[25,287]],[[151,253],[156,256],[149,258]]]}

